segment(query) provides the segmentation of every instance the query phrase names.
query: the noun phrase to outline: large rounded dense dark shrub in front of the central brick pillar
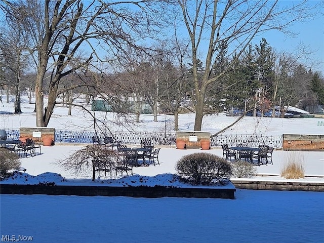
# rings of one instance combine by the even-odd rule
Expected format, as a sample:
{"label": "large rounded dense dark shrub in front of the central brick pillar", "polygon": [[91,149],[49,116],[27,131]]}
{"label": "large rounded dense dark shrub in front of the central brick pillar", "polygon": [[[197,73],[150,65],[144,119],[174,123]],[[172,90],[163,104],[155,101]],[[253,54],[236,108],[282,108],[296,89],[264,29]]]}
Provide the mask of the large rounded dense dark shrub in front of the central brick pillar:
{"label": "large rounded dense dark shrub in front of the central brick pillar", "polygon": [[180,176],[193,185],[225,184],[231,174],[231,165],[211,153],[192,153],[179,159],[175,166]]}

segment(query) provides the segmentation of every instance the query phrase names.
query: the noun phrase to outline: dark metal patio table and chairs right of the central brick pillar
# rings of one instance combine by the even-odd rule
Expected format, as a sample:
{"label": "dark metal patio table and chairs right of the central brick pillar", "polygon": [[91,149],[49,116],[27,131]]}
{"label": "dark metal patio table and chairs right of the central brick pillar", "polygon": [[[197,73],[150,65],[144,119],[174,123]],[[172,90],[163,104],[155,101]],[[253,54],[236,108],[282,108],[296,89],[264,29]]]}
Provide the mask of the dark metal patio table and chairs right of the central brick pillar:
{"label": "dark metal patio table and chairs right of the central brick pillar", "polygon": [[223,158],[226,160],[231,160],[234,158],[234,161],[237,160],[246,160],[252,164],[268,165],[273,164],[272,162],[272,152],[273,147],[267,145],[259,145],[259,147],[248,147],[245,144],[238,144],[235,147],[228,147],[227,144],[222,145],[223,149]]}

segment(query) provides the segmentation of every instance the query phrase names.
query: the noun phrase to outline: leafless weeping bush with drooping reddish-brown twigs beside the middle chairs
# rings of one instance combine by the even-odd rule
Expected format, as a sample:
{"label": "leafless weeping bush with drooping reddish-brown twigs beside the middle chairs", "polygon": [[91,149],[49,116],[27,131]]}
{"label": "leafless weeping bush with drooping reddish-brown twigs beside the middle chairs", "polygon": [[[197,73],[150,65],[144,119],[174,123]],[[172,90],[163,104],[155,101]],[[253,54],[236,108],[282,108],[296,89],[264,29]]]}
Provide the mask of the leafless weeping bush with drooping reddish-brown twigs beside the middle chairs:
{"label": "leafless weeping bush with drooping reddish-brown twigs beside the middle chairs", "polygon": [[75,172],[75,174],[92,171],[92,180],[94,181],[96,161],[102,159],[113,169],[117,158],[117,153],[110,148],[104,146],[86,146],[75,151],[69,157],[58,161],[58,164],[68,171]]}

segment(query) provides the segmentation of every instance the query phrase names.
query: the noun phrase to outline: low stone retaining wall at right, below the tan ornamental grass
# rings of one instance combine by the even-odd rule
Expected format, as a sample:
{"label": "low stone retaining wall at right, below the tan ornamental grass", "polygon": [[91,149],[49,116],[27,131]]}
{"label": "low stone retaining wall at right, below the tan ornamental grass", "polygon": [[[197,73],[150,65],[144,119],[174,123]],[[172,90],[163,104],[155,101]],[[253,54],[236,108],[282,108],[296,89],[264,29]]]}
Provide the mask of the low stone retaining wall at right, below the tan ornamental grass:
{"label": "low stone retaining wall at right, below the tan ornamental grass", "polygon": [[281,181],[248,181],[232,180],[238,189],[253,190],[288,190],[288,191],[324,191],[324,183],[319,182],[281,182]]}

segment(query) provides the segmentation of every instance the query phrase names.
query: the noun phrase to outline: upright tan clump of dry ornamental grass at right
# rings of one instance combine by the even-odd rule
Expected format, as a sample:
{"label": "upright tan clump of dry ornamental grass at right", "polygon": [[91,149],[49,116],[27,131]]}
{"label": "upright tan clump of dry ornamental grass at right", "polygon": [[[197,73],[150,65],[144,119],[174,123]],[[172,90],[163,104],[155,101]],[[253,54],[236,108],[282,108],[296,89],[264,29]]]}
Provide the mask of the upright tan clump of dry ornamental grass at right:
{"label": "upright tan clump of dry ornamental grass at right", "polygon": [[304,156],[300,151],[290,151],[286,156],[286,163],[281,168],[281,177],[286,179],[304,178]]}

